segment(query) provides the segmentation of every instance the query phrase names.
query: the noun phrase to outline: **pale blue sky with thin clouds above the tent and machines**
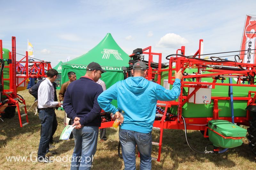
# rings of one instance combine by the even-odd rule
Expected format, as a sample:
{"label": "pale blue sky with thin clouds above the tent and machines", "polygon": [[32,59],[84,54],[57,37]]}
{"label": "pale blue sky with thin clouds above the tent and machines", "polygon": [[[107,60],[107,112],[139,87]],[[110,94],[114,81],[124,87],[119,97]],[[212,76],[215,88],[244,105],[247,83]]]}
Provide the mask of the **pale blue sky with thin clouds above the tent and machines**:
{"label": "pale blue sky with thin clouds above the tent and machines", "polygon": [[17,53],[25,55],[29,39],[34,57],[53,67],[83,55],[107,33],[127,54],[152,46],[166,56],[184,45],[192,55],[199,39],[204,39],[204,54],[239,50],[245,16],[256,15],[255,5],[246,0],[0,0],[0,6],[3,47],[11,49],[16,36]]}

